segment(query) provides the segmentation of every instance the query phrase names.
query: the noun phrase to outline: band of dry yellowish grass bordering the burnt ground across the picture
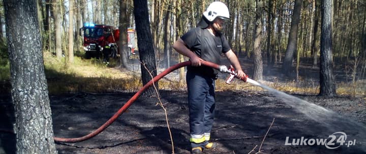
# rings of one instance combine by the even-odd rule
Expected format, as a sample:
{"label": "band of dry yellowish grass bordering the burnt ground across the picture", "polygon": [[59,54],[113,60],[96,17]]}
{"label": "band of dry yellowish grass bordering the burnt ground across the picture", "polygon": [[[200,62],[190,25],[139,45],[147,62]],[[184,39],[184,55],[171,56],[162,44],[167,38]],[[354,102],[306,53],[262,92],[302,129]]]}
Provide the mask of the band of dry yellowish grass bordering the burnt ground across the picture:
{"label": "band of dry yellowish grass bordering the burnt ground across the picture", "polygon": [[[118,68],[117,59],[111,59],[110,65],[106,66],[100,59],[81,57],[75,56],[74,64],[65,68],[64,59],[57,59],[50,52],[44,53],[45,73],[50,94],[136,92],[142,87],[140,73]],[[9,63],[0,65],[0,72],[0,81],[9,82]],[[262,81],[262,83],[289,94],[319,94],[319,83],[315,81]],[[187,85],[186,81],[179,82],[163,78],[159,81],[159,89],[187,90]],[[226,84],[224,79],[216,80],[216,90],[263,91],[261,87],[237,79],[231,84]],[[366,97],[366,80],[356,81],[355,84],[338,82],[337,94],[347,97]]]}

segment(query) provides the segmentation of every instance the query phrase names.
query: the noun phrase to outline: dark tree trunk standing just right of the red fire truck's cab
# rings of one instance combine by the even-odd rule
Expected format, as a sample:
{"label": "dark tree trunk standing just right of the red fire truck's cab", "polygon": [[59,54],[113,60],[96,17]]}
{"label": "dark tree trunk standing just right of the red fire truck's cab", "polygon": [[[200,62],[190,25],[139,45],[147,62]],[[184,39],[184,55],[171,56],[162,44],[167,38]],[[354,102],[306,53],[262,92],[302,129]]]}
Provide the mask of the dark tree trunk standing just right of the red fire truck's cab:
{"label": "dark tree trunk standing just right of the red fire truck's cab", "polygon": [[120,66],[127,68],[128,34],[127,34],[127,0],[119,0],[119,41],[118,50],[120,54]]}

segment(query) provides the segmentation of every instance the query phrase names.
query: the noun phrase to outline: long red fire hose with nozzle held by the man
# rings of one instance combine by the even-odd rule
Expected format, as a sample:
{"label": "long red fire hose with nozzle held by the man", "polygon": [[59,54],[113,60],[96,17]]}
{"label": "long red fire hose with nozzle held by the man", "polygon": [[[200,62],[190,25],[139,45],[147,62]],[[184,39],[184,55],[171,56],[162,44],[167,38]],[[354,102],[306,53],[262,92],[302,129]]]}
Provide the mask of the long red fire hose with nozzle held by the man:
{"label": "long red fire hose with nozzle held by the man", "polygon": [[[230,67],[228,69],[224,65],[217,65],[217,64],[211,63],[209,61],[201,61],[201,64],[204,66],[207,66],[207,67],[217,69],[221,73],[230,74],[230,76],[226,80],[226,83],[228,83],[228,84],[234,77],[236,77],[236,73],[232,67]],[[93,131],[92,133],[89,133],[85,136],[78,137],[78,138],[54,137],[54,141],[56,141],[56,142],[81,142],[81,141],[95,137],[96,135],[98,135],[99,133],[104,131],[109,125],[111,125],[121,114],[123,114],[147,88],[149,88],[151,85],[153,85],[153,83],[157,82],[158,80],[160,80],[161,78],[163,78],[164,76],[173,72],[176,69],[179,69],[181,67],[190,66],[190,65],[191,65],[191,61],[185,61],[183,63],[179,63],[174,66],[171,66],[168,69],[164,70],[162,73],[155,76],[153,79],[151,79],[149,82],[147,82],[140,90],[138,90],[137,93],[130,100],[128,100],[125,105],[123,105],[121,108],[119,108],[119,110],[116,113],[114,113],[114,115],[111,118],[109,118],[101,127],[99,127],[97,130]],[[243,76],[242,78],[240,78],[240,80],[246,82],[247,78],[248,78],[248,75]]]}

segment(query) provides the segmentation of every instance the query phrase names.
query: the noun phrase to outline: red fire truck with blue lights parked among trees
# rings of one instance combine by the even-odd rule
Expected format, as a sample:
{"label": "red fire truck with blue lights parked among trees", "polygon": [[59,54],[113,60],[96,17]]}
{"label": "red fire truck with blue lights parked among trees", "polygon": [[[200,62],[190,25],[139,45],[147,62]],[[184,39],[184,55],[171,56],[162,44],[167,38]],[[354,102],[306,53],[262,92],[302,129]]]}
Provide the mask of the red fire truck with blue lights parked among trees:
{"label": "red fire truck with blue lights parked among trees", "polygon": [[[135,30],[129,28],[128,32],[128,56],[135,54]],[[83,37],[85,58],[101,57],[103,47],[109,45],[112,49],[110,57],[116,57],[119,54],[117,42],[119,41],[119,29],[105,24],[84,23],[80,28],[80,36]]]}

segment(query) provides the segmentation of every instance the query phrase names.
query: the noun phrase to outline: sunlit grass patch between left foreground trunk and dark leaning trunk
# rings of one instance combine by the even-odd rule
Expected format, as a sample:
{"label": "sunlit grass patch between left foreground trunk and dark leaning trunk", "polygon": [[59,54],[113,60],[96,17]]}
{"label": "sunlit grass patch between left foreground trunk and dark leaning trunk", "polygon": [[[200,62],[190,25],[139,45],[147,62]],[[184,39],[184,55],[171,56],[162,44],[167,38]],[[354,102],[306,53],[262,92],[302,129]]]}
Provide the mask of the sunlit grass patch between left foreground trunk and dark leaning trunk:
{"label": "sunlit grass patch between left foreground trunk and dark leaning trunk", "polygon": [[[58,60],[49,53],[44,54],[44,59],[50,94],[136,91],[142,85],[139,75],[122,73],[99,59],[75,57],[69,68],[65,68],[64,59]],[[115,61],[111,64],[116,65]]]}

